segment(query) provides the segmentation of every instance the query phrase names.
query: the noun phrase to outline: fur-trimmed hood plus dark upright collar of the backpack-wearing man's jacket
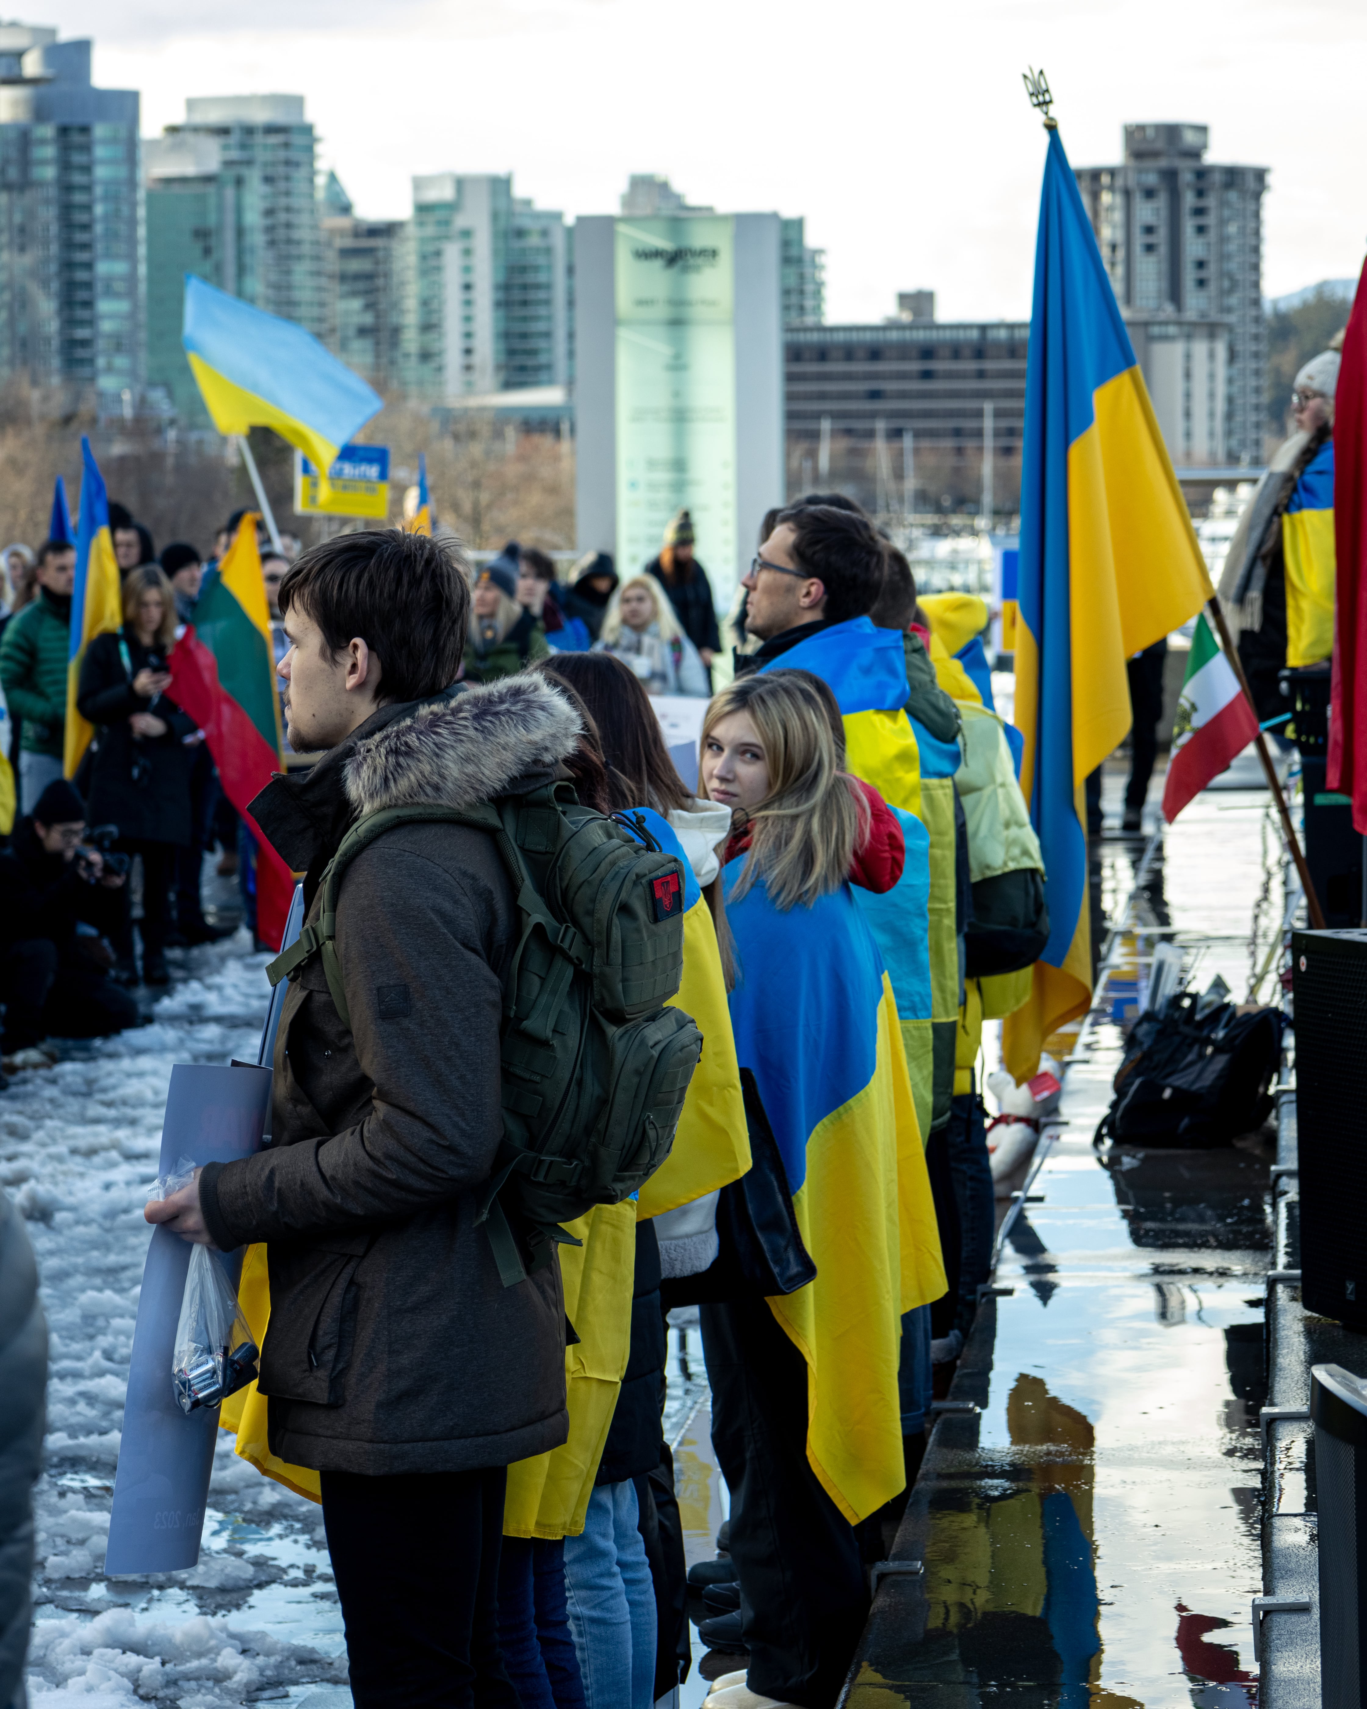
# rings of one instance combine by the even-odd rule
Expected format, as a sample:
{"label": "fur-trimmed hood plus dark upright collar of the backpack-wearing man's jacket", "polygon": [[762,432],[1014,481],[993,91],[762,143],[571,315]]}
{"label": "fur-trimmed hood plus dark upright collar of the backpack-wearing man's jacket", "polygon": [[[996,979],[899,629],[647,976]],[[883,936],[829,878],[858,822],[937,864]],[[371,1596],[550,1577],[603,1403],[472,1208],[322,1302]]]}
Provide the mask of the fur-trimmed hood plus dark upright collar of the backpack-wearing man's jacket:
{"label": "fur-trimmed hood plus dark upright collar of the backpack-wearing man's jacket", "polygon": [[251,817],[304,894],[359,813],[381,807],[475,807],[514,784],[537,788],[574,752],[579,713],[540,673],[502,677],[432,701],[381,706],[304,772],[273,778]]}

